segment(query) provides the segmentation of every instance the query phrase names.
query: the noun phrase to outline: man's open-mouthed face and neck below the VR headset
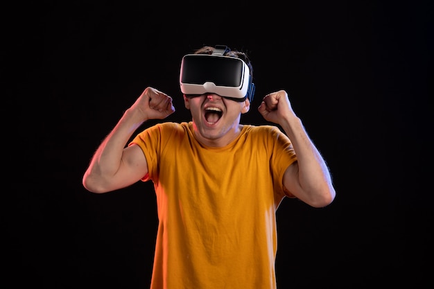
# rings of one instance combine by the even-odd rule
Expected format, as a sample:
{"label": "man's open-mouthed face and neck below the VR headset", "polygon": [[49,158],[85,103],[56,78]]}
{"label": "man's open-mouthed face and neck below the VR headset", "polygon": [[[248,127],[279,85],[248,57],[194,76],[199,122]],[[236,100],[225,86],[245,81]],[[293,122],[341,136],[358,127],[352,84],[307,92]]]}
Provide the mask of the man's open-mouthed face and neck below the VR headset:
{"label": "man's open-mouthed face and neck below the VR headset", "polygon": [[196,139],[207,146],[226,146],[234,140],[240,132],[241,114],[250,108],[248,99],[237,102],[217,94],[184,96],[184,104],[191,112]]}

